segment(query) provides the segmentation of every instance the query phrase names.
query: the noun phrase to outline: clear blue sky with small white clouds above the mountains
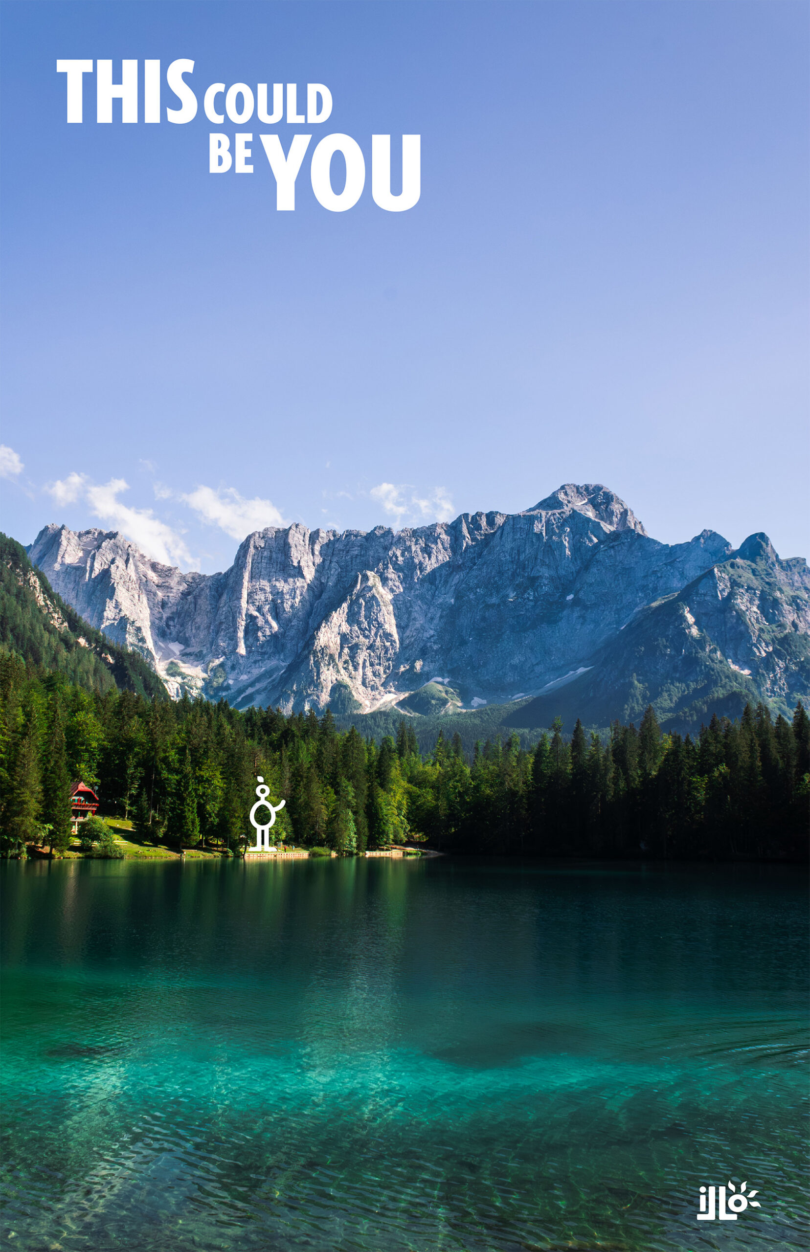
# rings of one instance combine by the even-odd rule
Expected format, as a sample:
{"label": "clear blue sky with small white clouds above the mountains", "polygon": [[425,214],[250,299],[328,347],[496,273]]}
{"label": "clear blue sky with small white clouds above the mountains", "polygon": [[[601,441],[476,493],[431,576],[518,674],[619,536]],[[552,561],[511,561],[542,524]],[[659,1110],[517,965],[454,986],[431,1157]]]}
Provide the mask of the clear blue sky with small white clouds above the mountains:
{"label": "clear blue sky with small white clouds above the mountains", "polygon": [[[667,542],[807,555],[802,3],[3,6],[3,511],[203,570],[260,525],[602,482]],[[195,61],[188,125],[66,124],[56,58]],[[323,125],[214,81],[323,83]],[[164,86],[165,105],[177,105]],[[219,98],[222,104],[222,96]],[[422,136],[422,194],[275,212],[259,133]],[[262,160],[259,160],[259,156]],[[396,164],[396,160],[394,160]],[[337,179],[337,174],[336,174]]]}

